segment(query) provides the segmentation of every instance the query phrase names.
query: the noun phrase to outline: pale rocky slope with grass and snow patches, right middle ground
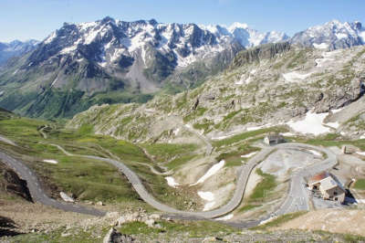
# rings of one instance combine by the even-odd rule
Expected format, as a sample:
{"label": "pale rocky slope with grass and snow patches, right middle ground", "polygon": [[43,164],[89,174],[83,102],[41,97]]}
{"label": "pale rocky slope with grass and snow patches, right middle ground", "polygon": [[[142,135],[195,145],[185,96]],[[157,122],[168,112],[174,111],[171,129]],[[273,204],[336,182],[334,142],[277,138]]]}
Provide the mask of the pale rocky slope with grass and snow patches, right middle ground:
{"label": "pale rocky slope with grass and snow patches, right middle ground", "polygon": [[[96,132],[132,141],[169,141],[183,123],[212,139],[275,125],[309,135],[339,132],[360,138],[362,126],[349,129],[349,124],[363,117],[364,59],[364,47],[253,48],[197,89],[144,105],[94,106],[68,125],[93,124]],[[358,104],[356,110],[352,104]]]}

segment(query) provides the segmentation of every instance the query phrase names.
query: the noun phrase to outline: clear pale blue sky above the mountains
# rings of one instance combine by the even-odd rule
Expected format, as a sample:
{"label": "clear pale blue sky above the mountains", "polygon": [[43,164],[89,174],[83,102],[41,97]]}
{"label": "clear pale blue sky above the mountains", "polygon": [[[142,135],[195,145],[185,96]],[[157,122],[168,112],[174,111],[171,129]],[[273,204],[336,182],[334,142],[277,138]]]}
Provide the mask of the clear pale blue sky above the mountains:
{"label": "clear pale blue sky above the mountains", "polygon": [[365,26],[364,0],[0,0],[0,42],[42,40],[64,22],[111,16],[124,21],[154,18],[162,23],[246,23],[261,32],[293,36],[332,19]]}

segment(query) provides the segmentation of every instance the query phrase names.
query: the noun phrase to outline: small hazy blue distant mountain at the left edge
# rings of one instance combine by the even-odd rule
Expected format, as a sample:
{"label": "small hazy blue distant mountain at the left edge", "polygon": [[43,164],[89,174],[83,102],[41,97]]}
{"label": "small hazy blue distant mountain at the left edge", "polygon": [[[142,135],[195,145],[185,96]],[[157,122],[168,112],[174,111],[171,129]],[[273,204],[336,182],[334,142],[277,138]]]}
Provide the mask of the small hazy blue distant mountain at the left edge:
{"label": "small hazy blue distant mountain at the left edge", "polygon": [[39,41],[35,39],[27,41],[14,40],[10,43],[0,42],[0,66],[4,65],[9,58],[19,57],[26,52],[34,50]]}

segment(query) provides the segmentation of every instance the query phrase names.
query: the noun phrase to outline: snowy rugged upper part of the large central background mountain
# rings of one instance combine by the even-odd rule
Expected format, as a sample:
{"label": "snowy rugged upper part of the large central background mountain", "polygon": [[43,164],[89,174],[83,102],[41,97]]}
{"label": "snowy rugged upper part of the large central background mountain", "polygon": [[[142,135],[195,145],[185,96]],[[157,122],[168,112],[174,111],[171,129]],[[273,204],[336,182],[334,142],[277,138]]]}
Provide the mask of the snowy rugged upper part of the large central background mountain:
{"label": "snowy rugged upper part of the large central background mountain", "polygon": [[163,24],[154,19],[125,22],[105,17],[77,25],[64,24],[41,45],[57,49],[50,52],[52,55],[78,56],[78,59],[82,58],[80,55],[86,54],[85,50],[89,50],[85,58],[92,58],[101,67],[114,65],[122,56],[142,58],[146,65],[148,50],[154,48],[162,55],[169,55],[172,63],[184,67],[195,60],[213,57],[233,43],[238,42],[242,48],[250,48],[282,41],[286,37],[283,33],[259,33],[242,23],[234,23],[229,27],[197,26]]}

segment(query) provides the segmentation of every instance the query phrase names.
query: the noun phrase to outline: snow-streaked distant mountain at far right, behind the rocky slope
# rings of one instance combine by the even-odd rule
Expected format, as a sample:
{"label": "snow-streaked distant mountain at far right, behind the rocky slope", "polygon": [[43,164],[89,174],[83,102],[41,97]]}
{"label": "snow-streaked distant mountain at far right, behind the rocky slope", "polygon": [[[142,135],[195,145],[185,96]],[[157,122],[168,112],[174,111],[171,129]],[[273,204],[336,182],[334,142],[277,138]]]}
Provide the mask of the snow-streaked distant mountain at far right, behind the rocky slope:
{"label": "snow-streaked distant mountain at far right, behind the rocky slope", "polygon": [[311,48],[351,48],[365,44],[365,28],[358,21],[341,23],[333,20],[297,33],[291,42]]}

